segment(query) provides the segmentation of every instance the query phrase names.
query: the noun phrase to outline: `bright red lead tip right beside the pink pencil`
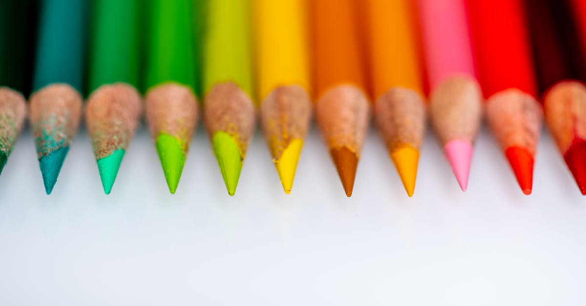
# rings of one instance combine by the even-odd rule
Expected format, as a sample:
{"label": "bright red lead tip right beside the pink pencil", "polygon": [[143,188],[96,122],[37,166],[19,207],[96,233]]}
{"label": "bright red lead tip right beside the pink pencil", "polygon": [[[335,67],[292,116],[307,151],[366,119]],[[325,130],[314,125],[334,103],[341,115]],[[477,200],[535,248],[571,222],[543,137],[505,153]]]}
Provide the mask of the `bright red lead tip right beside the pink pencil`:
{"label": "bright red lead tip right beside the pink pencil", "polygon": [[530,195],[533,188],[533,154],[521,147],[509,147],[505,155],[515,172],[519,187],[524,194]]}

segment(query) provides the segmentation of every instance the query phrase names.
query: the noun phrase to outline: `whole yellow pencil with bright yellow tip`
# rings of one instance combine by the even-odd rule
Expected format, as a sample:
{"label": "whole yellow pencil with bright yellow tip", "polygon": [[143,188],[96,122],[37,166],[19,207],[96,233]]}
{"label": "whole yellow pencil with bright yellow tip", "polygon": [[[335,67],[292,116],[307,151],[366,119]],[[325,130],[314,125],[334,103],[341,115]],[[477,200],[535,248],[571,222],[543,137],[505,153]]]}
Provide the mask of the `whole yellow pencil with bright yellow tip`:
{"label": "whole yellow pencil with bright yellow tip", "polygon": [[261,123],[285,193],[290,193],[311,115],[305,0],[255,0]]}

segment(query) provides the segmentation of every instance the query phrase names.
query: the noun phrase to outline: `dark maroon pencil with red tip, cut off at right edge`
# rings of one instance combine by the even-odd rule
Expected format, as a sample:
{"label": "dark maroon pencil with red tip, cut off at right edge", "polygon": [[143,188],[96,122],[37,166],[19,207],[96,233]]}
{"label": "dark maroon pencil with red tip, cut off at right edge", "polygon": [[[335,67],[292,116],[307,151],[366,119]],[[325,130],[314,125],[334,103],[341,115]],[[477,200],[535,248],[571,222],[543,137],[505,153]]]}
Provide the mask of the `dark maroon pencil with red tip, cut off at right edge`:
{"label": "dark maroon pencil with red tip, cut off at right edge", "polygon": [[586,53],[565,1],[527,1],[546,123],[586,195]]}

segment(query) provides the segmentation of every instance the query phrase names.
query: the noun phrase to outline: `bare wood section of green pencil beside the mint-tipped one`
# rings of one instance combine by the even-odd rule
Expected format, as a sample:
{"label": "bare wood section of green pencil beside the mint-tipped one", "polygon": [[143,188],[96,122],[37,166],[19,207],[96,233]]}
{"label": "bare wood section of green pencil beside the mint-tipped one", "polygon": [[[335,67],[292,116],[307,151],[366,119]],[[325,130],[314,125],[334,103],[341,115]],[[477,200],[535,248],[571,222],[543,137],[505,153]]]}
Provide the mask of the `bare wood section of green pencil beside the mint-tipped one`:
{"label": "bare wood section of green pencil beside the mint-tipped one", "polygon": [[152,137],[156,139],[165,132],[186,145],[189,145],[197,126],[198,110],[193,91],[176,83],[154,87],[148,91],[145,100],[145,114]]}

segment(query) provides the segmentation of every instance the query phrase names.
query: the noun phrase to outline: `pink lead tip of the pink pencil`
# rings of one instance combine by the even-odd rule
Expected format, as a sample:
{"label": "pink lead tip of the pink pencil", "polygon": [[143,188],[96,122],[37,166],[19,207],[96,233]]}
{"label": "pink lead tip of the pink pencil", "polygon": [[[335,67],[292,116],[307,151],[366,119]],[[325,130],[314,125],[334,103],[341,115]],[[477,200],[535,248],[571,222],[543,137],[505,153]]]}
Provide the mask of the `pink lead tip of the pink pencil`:
{"label": "pink lead tip of the pink pencil", "polygon": [[460,188],[465,192],[468,189],[472,143],[468,140],[452,140],[445,144],[444,152],[449,164],[452,166],[452,171],[454,171]]}

